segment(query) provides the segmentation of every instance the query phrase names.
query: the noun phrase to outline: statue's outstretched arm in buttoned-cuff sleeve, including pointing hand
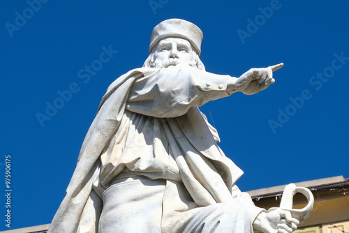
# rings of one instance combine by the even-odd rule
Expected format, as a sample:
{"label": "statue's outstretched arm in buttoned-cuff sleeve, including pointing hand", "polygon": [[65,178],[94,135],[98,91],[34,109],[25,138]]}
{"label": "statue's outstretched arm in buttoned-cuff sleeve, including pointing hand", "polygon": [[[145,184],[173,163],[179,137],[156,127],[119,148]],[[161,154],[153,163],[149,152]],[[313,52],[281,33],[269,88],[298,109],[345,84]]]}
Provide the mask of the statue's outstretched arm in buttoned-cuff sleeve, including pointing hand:
{"label": "statue's outstretched arm in buttoned-cuff sleeve, including pointing hand", "polygon": [[252,68],[240,77],[216,75],[181,64],[158,69],[133,82],[126,110],[152,117],[179,117],[190,107],[200,107],[237,91],[247,95],[258,93],[275,82],[273,71],[282,66],[283,63]]}

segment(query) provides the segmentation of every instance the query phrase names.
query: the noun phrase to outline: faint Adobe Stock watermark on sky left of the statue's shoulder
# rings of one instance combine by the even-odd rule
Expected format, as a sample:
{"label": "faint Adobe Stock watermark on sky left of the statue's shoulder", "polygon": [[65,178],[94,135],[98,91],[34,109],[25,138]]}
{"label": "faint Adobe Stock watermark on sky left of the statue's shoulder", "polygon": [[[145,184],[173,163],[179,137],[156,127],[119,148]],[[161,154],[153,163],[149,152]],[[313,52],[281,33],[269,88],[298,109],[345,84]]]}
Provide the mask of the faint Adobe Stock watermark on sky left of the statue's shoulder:
{"label": "faint Adobe Stock watermark on sky left of the statue's shoulder", "polygon": [[[99,70],[103,68],[103,64],[109,62],[115,54],[119,51],[113,50],[112,45],[109,47],[102,46],[103,52],[99,54],[98,59],[92,61],[90,65],[85,65],[84,68],[77,71],[77,78],[82,80],[83,84],[87,84],[92,76],[95,76]],[[46,110],[44,113],[36,112],[36,119],[40,123],[40,126],[45,126],[45,121],[50,121],[52,117],[56,116],[59,110],[61,110],[66,103],[72,98],[73,94],[78,93],[81,90],[81,85],[77,82],[71,82],[67,89],[57,91],[57,98],[52,102],[46,101]]]}

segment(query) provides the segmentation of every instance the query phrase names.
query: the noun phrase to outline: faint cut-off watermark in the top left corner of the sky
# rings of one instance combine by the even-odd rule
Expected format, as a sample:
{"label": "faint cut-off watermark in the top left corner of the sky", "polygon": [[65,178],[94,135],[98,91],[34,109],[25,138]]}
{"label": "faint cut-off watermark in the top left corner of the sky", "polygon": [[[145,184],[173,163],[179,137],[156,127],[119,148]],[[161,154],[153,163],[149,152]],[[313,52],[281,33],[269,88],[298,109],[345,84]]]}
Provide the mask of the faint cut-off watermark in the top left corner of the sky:
{"label": "faint cut-off watermark in the top left corner of the sky", "polygon": [[22,14],[16,11],[14,24],[11,24],[10,22],[6,22],[5,24],[10,37],[13,37],[14,31],[20,31],[20,29],[27,24],[27,20],[30,20],[34,14],[41,9],[43,3],[47,3],[47,1],[49,0],[28,0],[28,7],[22,11]]}

